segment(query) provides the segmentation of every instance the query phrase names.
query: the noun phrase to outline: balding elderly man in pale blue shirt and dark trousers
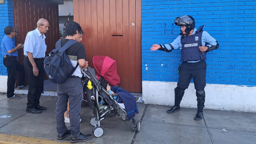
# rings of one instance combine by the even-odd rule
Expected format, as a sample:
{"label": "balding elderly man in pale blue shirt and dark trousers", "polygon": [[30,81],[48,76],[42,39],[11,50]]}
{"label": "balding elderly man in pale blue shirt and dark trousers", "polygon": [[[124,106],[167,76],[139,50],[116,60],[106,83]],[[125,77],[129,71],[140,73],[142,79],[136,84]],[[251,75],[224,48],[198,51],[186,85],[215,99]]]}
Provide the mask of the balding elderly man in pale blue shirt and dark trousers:
{"label": "balding elderly man in pale blue shirt and dark trousers", "polygon": [[45,107],[39,105],[39,99],[44,86],[44,57],[46,44],[44,33],[48,31],[49,22],[39,19],[37,28],[27,33],[24,43],[24,66],[29,81],[27,108],[29,113],[41,113]]}

